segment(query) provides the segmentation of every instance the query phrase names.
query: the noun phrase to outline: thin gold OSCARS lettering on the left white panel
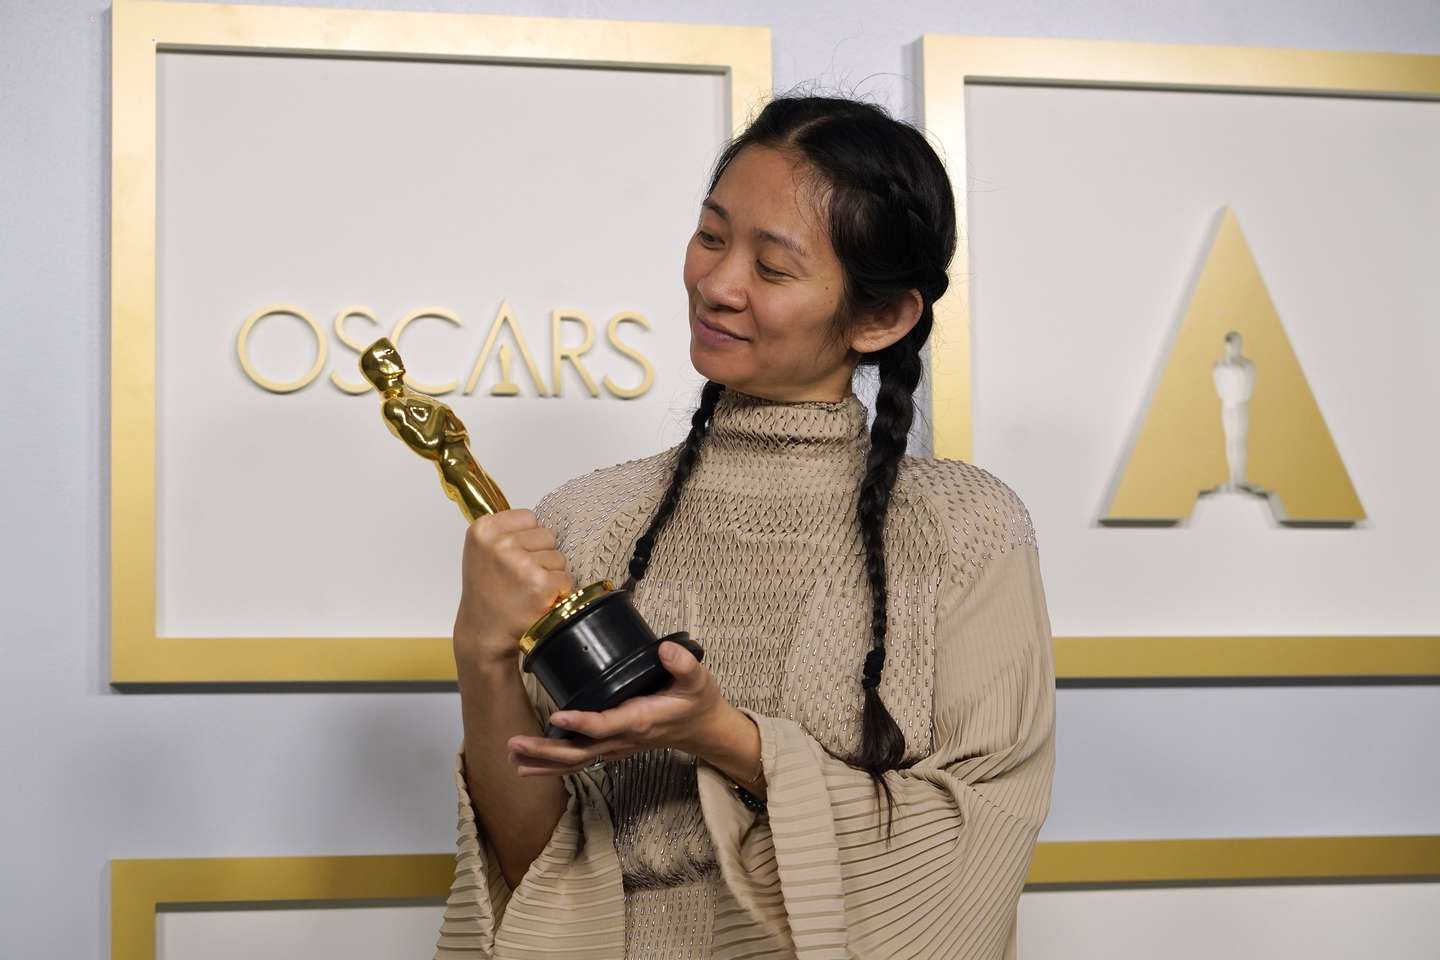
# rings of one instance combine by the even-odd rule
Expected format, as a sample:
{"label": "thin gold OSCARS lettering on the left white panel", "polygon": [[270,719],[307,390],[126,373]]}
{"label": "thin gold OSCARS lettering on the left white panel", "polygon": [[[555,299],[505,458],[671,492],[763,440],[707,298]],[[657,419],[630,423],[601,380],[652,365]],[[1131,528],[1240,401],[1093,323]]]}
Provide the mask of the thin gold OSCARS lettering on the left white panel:
{"label": "thin gold OSCARS lettering on the left white panel", "polygon": [[[302,376],[294,380],[281,381],[266,376],[256,367],[251,357],[251,338],[255,334],[255,328],[271,317],[295,317],[310,328],[310,335],[314,338],[314,363]],[[405,331],[420,320],[441,321],[456,328],[464,328],[462,320],[454,311],[429,307],[410,311],[396,321],[389,332],[389,341],[399,345]],[[346,307],[336,314],[333,324],[334,340],[359,354],[364,350],[364,343],[354,332],[356,324],[367,324],[373,328],[383,328],[383,324],[366,307]],[[490,376],[494,379],[494,383],[485,393],[492,397],[559,397],[563,396],[566,367],[569,367],[589,397],[600,397],[603,389],[605,394],[618,400],[634,400],[648,393],[654,386],[655,367],[639,348],[625,340],[632,332],[626,331],[626,327],[631,325],[638,327],[641,331],[649,330],[649,321],[642,314],[621,311],[612,315],[605,324],[603,343],[606,351],[618,354],[625,363],[638,368],[638,379],[622,377],[622,380],[615,380],[605,374],[596,380],[586,358],[593,360],[596,356],[599,335],[595,322],[588,314],[577,309],[550,311],[549,364],[541,367],[516,320],[514,311],[510,308],[510,302],[501,301],[480,348],[474,354],[467,354],[465,368],[455,371],[456,376],[454,379],[442,383],[422,383],[410,373],[406,376],[405,383],[412,390],[429,396],[446,396],[456,390],[461,390],[465,396],[471,396],[480,389],[482,379]],[[295,393],[312,384],[325,368],[328,351],[330,335],[327,335],[314,317],[294,304],[271,304],[256,309],[240,324],[240,331],[235,340],[235,353],[245,376],[258,387],[271,393]],[[341,377],[338,370],[330,373],[330,383],[341,393],[351,396],[369,393],[374,389],[369,381],[353,381]]]}

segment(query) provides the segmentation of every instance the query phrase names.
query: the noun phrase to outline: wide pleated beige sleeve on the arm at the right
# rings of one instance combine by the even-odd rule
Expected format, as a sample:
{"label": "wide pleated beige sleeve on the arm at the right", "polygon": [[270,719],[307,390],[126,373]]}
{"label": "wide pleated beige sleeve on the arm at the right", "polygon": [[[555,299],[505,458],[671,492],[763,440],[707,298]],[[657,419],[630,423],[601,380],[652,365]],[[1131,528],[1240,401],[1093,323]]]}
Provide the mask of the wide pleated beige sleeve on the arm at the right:
{"label": "wide pleated beige sleeve on the arm at the right", "polygon": [[935,616],[935,751],[886,774],[888,838],[870,776],[793,721],[750,714],[766,813],[700,764],[727,894],[717,957],[1014,956],[1054,774],[1054,659],[1034,541],[973,577],[948,576]]}

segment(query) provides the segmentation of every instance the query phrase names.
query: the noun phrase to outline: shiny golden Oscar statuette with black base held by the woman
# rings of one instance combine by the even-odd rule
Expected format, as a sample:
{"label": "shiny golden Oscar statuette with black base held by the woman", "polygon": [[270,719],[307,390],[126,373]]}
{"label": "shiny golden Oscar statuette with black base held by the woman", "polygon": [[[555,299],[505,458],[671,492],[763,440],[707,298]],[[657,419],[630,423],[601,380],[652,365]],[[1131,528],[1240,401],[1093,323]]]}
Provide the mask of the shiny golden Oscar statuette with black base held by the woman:
{"label": "shiny golden Oscar statuette with black base held by the woman", "polygon": [[[435,463],[445,495],[459,504],[467,521],[510,510],[500,486],[471,455],[469,435],[455,412],[406,383],[395,344],[384,337],[374,341],[360,354],[360,371],[380,394],[386,427]],[[704,655],[688,633],[657,638],[635,609],[631,592],[599,580],[556,597],[517,646],[523,668],[536,675],[556,707],[608,710],[670,681],[657,652],[667,639],[683,643],[697,658]],[[546,734],[570,735],[557,727],[547,727]]]}

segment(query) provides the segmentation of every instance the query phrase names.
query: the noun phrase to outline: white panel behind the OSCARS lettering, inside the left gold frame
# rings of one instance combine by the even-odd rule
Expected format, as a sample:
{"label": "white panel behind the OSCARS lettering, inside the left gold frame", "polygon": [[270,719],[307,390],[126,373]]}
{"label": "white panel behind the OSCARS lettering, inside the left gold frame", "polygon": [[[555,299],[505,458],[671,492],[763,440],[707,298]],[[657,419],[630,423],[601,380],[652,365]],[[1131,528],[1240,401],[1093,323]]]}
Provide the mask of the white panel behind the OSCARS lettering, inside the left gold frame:
{"label": "white panel behind the OSCARS lettering, inside the left gold frame", "polygon": [[[590,317],[586,366],[624,387],[641,371],[605,322],[645,315],[649,331],[621,331],[657,368],[641,399],[592,399],[573,370],[540,399],[518,356],[524,396],[490,396],[491,357],[472,394],[445,397],[516,507],[680,439],[700,383],[681,263],[727,112],[716,75],[161,53],[158,632],[449,632],[458,510],[373,391],[328,383],[359,381],[354,351],[333,340],[325,376],[297,393],[246,379],[235,338],[269,304],[327,331],[361,304],[382,321],[347,325],[364,343],[410,311],[455,311],[461,328],[419,320],[402,347],[416,379],[461,389],[503,299],[552,389],[552,309]],[[314,357],[285,317],[252,347],[274,380]]]}

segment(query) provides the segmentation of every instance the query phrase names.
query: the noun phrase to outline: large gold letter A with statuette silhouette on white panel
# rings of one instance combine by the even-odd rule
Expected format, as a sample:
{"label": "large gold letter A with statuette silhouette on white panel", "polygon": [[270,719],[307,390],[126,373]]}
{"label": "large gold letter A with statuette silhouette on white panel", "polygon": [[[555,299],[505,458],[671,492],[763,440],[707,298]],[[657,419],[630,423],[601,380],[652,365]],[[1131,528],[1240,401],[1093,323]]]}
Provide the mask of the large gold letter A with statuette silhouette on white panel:
{"label": "large gold letter A with statuette silhouette on white panel", "polygon": [[1295,525],[1365,518],[1228,207],[1100,522],[1175,524],[1201,497],[1259,497]]}

